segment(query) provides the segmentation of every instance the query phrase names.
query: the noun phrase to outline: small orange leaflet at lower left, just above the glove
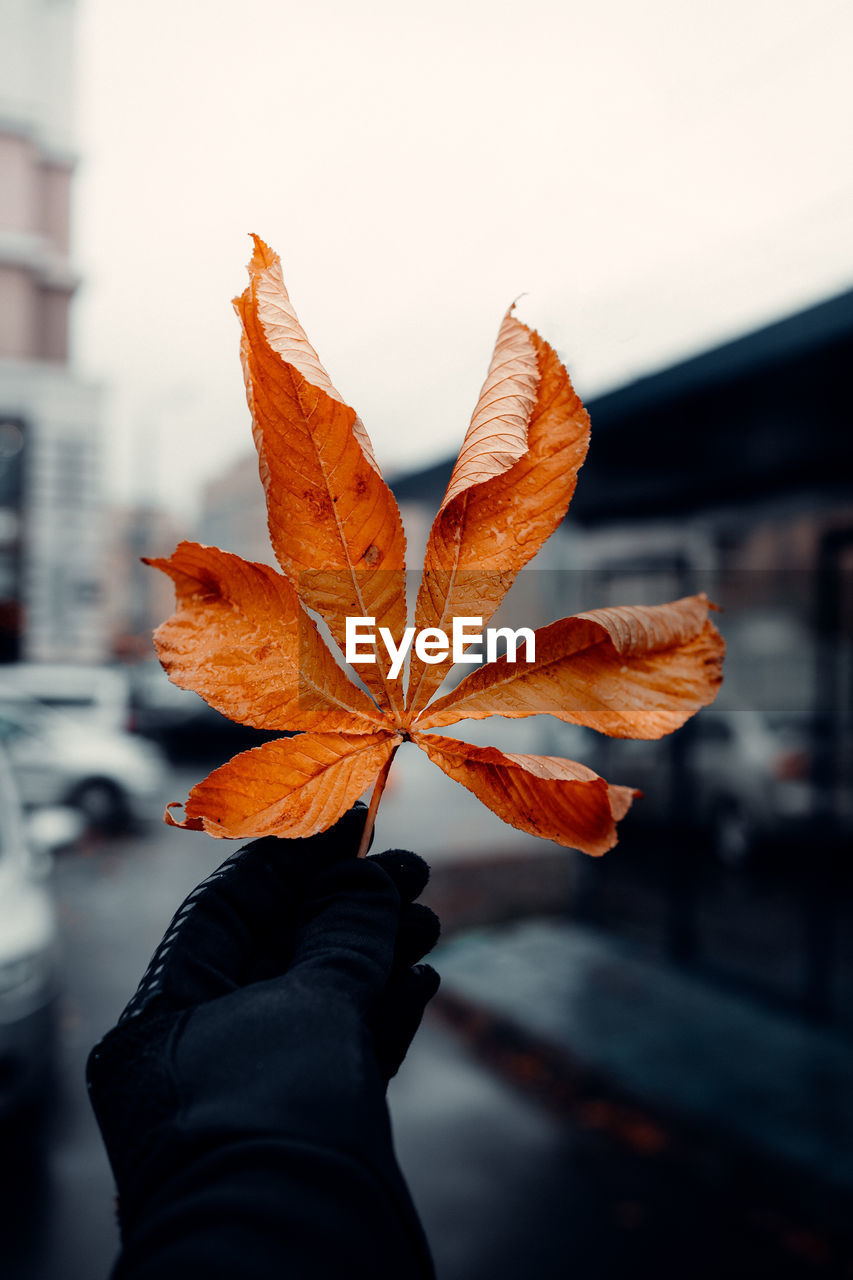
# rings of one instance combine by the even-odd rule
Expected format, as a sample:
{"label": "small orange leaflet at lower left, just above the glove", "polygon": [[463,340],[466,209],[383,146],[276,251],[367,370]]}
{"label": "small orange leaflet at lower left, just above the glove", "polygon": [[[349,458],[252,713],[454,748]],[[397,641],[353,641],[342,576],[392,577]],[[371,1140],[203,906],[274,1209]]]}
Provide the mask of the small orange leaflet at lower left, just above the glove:
{"label": "small orange leaflet at lower left, just above the glove", "polygon": [[314,836],[355,804],[379,776],[401,737],[300,733],[236,755],[190,792],[173,827],[220,840]]}

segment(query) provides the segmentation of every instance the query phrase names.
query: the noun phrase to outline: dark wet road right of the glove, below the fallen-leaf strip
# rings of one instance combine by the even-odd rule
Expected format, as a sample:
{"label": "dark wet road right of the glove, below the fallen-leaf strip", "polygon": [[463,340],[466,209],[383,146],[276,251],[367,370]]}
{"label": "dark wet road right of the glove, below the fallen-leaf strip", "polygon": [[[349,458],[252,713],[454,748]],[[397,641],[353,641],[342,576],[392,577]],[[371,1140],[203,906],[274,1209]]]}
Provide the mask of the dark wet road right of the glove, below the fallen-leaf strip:
{"label": "dark wet road right of the glove, below the fallen-leaf strip", "polygon": [[434,1006],[389,1091],[438,1280],[853,1275],[847,1242],[749,1170],[686,1164],[608,1092],[555,1110],[530,1047],[501,1060],[482,1036]]}

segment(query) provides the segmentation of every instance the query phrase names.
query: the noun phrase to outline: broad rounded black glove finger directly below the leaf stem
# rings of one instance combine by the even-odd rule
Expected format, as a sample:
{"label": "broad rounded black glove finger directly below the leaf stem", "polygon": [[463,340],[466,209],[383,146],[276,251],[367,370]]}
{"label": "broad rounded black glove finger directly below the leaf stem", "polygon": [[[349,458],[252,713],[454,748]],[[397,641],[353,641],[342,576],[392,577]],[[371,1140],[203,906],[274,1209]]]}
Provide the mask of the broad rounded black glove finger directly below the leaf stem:
{"label": "broad rounded black glove finger directly below the leaf stem", "polygon": [[288,978],[366,1007],[388,980],[398,923],[400,893],[375,860],[337,863],[306,900]]}

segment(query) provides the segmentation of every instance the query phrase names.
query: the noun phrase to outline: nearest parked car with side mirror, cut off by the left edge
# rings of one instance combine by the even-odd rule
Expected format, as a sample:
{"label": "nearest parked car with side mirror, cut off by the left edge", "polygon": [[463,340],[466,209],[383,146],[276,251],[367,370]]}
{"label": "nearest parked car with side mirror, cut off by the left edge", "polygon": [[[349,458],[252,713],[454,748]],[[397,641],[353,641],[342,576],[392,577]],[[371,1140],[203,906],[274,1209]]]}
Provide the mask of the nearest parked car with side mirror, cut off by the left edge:
{"label": "nearest parked car with side mirror, cut off by the left edge", "polygon": [[[55,835],[69,835],[61,820]],[[0,750],[0,1121],[44,1101],[54,1069],[56,915],[50,855],[33,847]]]}

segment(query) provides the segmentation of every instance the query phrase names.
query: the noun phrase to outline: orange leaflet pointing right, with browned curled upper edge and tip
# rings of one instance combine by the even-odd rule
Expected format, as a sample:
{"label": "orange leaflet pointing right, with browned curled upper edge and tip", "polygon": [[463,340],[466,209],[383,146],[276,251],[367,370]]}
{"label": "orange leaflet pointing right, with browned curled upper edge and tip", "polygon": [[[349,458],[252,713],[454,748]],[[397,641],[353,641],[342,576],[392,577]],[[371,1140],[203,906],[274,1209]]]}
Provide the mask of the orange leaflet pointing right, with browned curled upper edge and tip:
{"label": "orange leaflet pointing right, with browned curled upper edge and tip", "polygon": [[418,727],[548,713],[611,737],[662,737],[713,701],[724,653],[706,595],[593,609],[535,631],[535,662],[471,672]]}

